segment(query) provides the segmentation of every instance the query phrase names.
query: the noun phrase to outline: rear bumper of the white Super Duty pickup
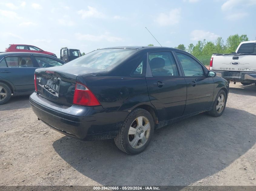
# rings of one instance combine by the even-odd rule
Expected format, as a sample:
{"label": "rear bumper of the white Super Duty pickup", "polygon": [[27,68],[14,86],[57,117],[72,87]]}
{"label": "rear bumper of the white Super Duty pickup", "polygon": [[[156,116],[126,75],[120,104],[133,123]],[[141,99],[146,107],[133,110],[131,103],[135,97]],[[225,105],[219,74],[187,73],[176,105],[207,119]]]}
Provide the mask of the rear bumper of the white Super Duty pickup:
{"label": "rear bumper of the white Super Duty pickup", "polygon": [[217,76],[224,78],[228,81],[234,82],[251,82],[256,81],[256,72],[231,72],[231,71],[218,71],[214,70]]}

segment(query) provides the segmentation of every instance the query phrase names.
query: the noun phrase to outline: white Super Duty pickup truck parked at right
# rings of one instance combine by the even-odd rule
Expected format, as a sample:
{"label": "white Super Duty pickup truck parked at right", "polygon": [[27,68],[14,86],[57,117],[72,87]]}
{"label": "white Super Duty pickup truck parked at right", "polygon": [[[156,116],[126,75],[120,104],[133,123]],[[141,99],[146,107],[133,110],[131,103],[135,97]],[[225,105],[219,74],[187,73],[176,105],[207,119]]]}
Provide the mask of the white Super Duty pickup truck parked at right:
{"label": "white Super Duty pickup truck parked at right", "polygon": [[213,54],[210,70],[234,84],[256,85],[256,40],[240,43],[236,53]]}

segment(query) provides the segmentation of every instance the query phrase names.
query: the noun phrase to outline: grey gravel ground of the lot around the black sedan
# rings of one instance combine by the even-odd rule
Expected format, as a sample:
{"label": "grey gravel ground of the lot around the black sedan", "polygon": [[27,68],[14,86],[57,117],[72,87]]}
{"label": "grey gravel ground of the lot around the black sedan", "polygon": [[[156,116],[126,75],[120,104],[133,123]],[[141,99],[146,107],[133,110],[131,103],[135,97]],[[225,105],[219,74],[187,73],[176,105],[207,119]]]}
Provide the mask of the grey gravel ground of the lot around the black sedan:
{"label": "grey gravel ground of the lot around the black sedan", "polygon": [[32,112],[28,96],[0,106],[2,185],[256,185],[256,86],[230,84],[221,117],[204,113],[155,131],[131,156],[113,140],[82,142]]}

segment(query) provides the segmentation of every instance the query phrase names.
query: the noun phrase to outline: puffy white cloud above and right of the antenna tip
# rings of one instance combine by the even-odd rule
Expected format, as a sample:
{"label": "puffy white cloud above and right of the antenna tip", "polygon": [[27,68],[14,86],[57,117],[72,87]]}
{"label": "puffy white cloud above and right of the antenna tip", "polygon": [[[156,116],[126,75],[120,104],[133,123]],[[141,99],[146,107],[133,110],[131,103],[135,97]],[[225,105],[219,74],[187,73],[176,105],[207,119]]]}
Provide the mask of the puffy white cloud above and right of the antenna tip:
{"label": "puffy white cloud above and right of the antenna tip", "polygon": [[172,9],[169,13],[160,13],[158,17],[155,19],[161,26],[174,25],[179,23],[181,18],[181,9],[175,8]]}

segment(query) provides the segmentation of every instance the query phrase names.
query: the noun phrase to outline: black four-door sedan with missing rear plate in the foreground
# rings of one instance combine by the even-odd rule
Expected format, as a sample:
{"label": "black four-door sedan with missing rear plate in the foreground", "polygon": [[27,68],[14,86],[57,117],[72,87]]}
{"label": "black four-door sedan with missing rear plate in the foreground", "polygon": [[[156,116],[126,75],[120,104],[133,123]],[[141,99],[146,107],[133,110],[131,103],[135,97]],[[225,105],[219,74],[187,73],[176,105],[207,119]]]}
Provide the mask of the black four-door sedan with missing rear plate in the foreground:
{"label": "black four-door sedan with missing rear plate in the foreground", "polygon": [[138,154],[154,130],[207,112],[221,116],[229,83],[191,54],[168,47],[99,49],[35,71],[38,119],[81,140],[114,138]]}

